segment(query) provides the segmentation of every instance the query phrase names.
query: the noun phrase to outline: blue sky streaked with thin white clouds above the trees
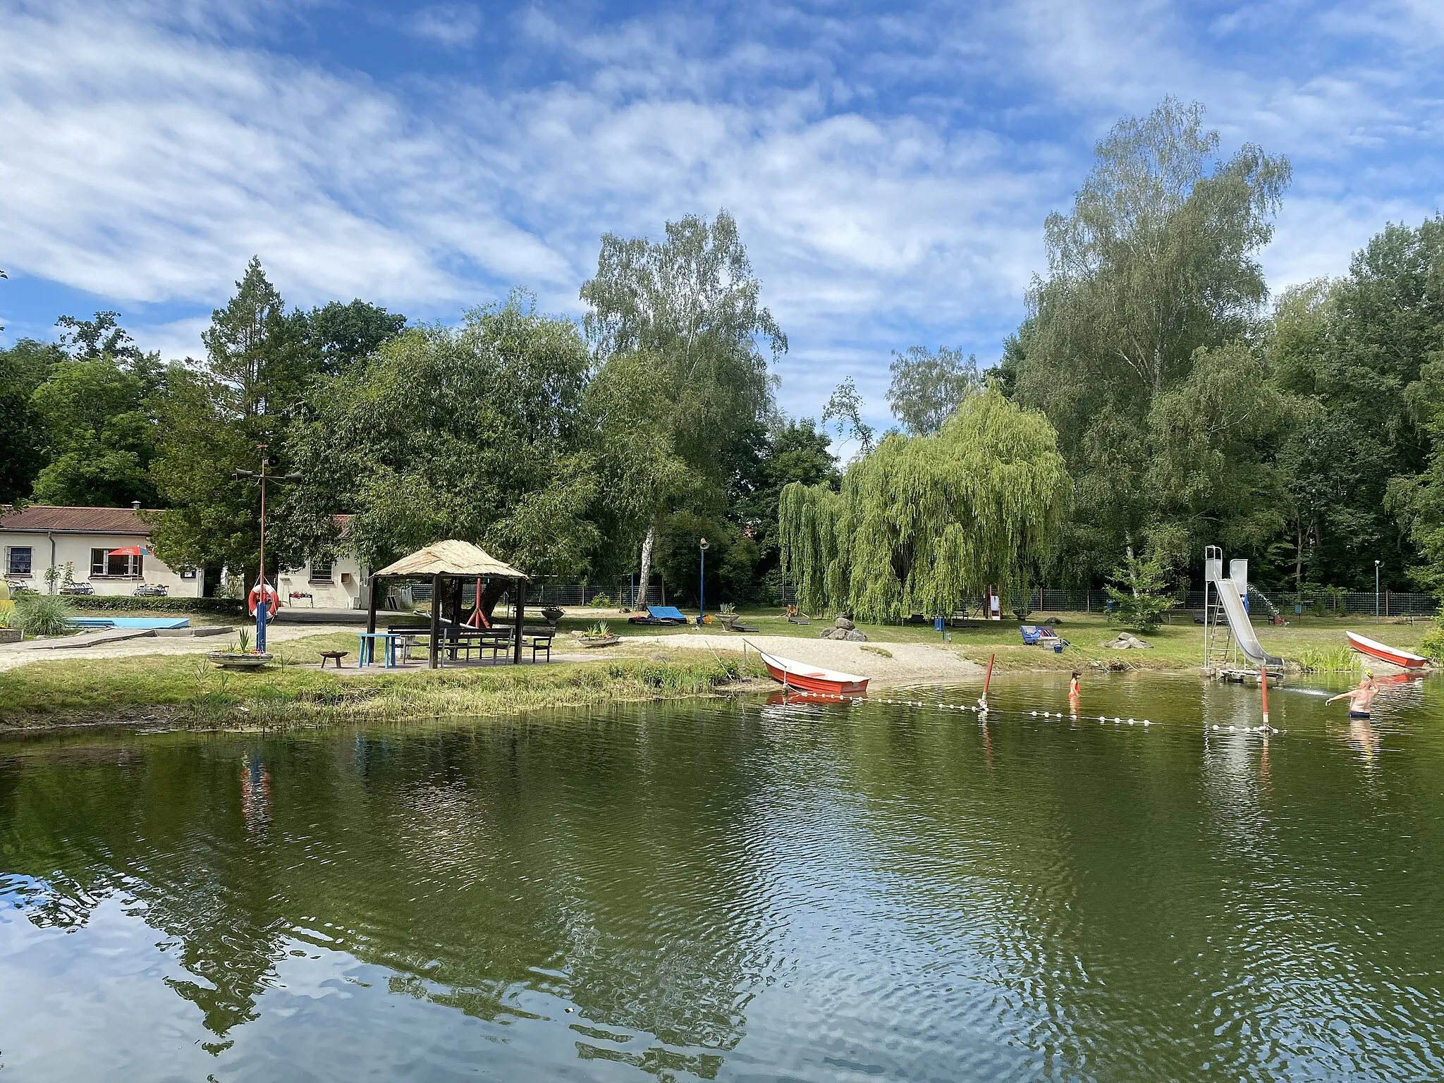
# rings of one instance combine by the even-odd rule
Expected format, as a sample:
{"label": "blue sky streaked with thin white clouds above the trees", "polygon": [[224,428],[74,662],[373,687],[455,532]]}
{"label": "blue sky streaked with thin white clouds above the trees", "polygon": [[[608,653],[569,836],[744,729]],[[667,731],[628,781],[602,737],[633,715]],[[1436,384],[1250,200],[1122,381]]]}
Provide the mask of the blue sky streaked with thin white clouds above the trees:
{"label": "blue sky streaked with thin white clouds above the trees", "polygon": [[287,302],[579,313],[604,231],[726,206],[780,399],[890,351],[992,362],[1093,143],[1165,94],[1294,163],[1264,263],[1337,274],[1440,209],[1444,3],[0,0],[0,322],[199,331],[254,253]]}

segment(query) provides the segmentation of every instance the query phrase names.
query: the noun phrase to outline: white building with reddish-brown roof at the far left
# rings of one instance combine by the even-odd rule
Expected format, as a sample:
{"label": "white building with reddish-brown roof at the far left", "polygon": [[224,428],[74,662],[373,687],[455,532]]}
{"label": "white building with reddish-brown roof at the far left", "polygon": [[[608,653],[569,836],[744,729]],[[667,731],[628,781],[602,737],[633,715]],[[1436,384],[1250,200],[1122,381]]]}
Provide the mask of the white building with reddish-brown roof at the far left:
{"label": "white building with reddish-brown roof at the far left", "polygon": [[[0,572],[12,586],[58,591],[66,572],[95,593],[134,593],[140,585],[165,586],[170,598],[199,598],[202,578],[195,569],[175,570],[150,552],[150,527],[129,508],[65,508],[30,504],[19,511],[0,504]],[[114,554],[117,549],[140,549]],[[46,569],[56,570],[48,583]]]}

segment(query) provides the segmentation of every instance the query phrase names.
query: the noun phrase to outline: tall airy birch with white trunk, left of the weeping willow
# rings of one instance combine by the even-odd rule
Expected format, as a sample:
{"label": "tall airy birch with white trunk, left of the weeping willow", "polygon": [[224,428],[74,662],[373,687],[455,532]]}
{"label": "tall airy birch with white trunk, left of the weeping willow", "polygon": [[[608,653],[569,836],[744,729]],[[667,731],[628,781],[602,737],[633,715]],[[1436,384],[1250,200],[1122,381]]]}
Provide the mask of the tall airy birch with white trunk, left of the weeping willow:
{"label": "tall airy birch with white trunk, left of the weeping willow", "polygon": [[[686,466],[689,503],[715,507],[728,491],[729,465],[748,456],[771,406],[762,345],[775,358],[787,336],[761,303],[761,283],[726,211],[710,224],[696,215],[667,222],[666,234],[661,243],[602,237],[596,276],[582,286],[585,328],[604,373],[617,360],[654,370],[656,384],[638,381],[645,388],[628,420],[651,429],[669,459]],[[638,468],[653,474],[648,464]],[[656,500],[632,520],[645,583],[660,518],[682,494],[654,481],[630,488]]]}

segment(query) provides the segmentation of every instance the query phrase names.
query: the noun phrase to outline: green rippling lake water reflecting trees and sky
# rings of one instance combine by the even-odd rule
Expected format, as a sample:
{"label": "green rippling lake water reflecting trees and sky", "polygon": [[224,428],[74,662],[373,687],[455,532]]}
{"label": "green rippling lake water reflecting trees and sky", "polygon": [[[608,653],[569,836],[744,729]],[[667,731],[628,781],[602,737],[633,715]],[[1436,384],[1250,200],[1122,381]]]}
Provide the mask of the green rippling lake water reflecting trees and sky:
{"label": "green rippling lake water reflecting trees and sky", "polygon": [[1444,1076],[1444,684],[1064,687],[0,742],[0,1079]]}

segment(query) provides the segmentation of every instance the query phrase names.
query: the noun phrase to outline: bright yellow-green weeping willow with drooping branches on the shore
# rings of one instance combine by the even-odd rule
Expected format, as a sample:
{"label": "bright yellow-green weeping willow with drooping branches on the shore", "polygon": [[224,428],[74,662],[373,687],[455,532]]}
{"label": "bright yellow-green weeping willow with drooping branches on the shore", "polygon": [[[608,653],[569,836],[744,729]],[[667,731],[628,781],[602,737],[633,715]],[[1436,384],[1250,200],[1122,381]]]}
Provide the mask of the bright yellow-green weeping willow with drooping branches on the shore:
{"label": "bright yellow-green weeping willow with drooping branches on the shore", "polygon": [[1027,583],[1070,492],[1053,425],[989,388],[933,436],[888,436],[848,468],[840,492],[784,488],[783,572],[812,612],[952,612],[988,586]]}

